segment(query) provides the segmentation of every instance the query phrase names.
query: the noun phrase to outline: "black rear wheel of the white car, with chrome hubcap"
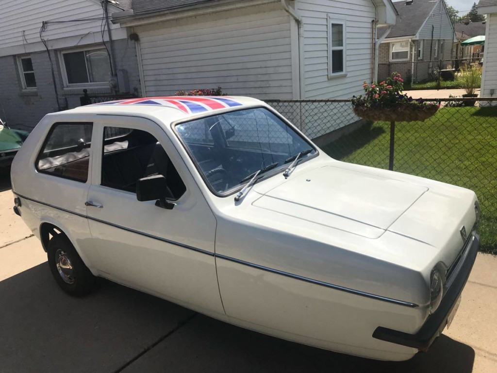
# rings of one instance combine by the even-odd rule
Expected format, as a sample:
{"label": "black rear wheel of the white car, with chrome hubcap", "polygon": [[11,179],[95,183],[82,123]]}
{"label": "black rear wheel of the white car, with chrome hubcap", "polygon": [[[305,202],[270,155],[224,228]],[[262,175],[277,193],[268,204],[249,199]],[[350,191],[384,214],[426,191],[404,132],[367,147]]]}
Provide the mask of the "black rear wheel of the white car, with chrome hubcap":
{"label": "black rear wheel of the white car, with chrome hubcap", "polygon": [[66,293],[83,296],[92,290],[95,276],[83,263],[73,244],[64,234],[58,234],[49,241],[47,257],[50,272]]}

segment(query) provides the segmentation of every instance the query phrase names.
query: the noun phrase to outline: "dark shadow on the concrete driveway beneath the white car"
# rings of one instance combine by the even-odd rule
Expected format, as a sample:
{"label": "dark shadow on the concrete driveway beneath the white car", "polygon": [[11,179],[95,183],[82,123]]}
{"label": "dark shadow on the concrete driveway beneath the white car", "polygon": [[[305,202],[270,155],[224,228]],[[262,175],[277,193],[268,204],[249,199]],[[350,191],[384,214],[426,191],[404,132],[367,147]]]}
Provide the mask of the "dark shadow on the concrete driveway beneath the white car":
{"label": "dark shadow on the concrete driveway beneath the white car", "polygon": [[[232,326],[110,281],[66,295],[47,263],[0,281],[7,372],[461,372],[474,350],[441,336],[406,362],[333,353]],[[153,348],[151,348],[153,347]],[[143,355],[143,356],[142,356]]]}

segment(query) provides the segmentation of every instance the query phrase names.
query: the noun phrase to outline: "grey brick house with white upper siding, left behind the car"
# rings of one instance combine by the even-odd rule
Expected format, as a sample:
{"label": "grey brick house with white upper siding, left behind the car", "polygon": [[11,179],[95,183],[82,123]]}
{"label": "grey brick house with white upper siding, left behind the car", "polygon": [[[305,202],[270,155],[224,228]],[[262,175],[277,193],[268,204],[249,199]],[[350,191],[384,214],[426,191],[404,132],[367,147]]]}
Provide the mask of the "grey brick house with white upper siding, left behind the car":
{"label": "grey brick house with white upper siding, left behind the car", "polygon": [[0,117],[30,130],[49,112],[79,106],[83,89],[139,90],[135,42],[109,22],[109,43],[105,10],[110,17],[119,6],[99,0],[2,1]]}

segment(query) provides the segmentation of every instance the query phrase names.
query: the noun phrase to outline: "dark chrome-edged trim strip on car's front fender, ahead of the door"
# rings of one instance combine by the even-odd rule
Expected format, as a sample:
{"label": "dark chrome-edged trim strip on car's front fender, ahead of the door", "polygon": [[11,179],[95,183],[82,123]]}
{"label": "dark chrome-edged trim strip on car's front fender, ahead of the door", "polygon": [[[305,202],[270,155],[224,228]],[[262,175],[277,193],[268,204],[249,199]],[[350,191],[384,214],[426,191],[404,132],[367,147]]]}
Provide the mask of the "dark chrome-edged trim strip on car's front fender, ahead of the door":
{"label": "dark chrome-edged trim strip on car's front fender, ahead of the door", "polygon": [[334,284],[329,283],[329,282],[324,282],[324,281],[319,281],[319,280],[313,280],[313,279],[310,279],[308,277],[293,275],[293,274],[288,273],[288,272],[274,270],[272,268],[268,268],[268,267],[264,267],[264,266],[259,266],[257,264],[245,262],[243,260],[239,260],[239,259],[227,257],[227,256],[221,255],[221,254],[216,254],[216,258],[220,258],[220,259],[224,259],[224,260],[227,260],[227,261],[230,261],[230,262],[242,264],[244,266],[256,268],[258,270],[262,270],[262,271],[274,273],[274,274],[277,274],[277,275],[282,275],[282,276],[289,277],[289,278],[292,278],[292,279],[302,280],[302,281],[314,283],[316,285],[321,285],[321,286],[329,287],[331,289],[345,291],[345,292],[348,292],[348,293],[351,293],[351,294],[364,296],[364,297],[367,297],[367,298],[377,299],[377,300],[381,300],[381,301],[384,301],[384,302],[399,304],[399,305],[402,305],[402,306],[407,306],[407,307],[412,307],[412,308],[419,307],[415,303],[406,302],[404,300],[392,299],[392,298],[388,298],[388,297],[385,297],[385,296],[371,294],[371,293],[367,293],[367,292],[360,291],[360,290],[354,290],[354,289],[351,289],[349,287],[344,287],[344,286],[340,286],[340,285],[334,285]]}

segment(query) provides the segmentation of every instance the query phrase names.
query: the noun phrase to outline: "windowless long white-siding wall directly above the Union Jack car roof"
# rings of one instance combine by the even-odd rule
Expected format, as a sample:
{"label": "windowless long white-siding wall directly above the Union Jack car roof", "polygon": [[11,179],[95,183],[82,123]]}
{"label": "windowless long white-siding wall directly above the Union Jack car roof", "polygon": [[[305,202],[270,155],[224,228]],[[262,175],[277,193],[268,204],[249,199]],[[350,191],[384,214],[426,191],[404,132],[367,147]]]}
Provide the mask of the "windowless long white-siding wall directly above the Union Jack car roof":
{"label": "windowless long white-siding wall directly above the Union Jack car roof", "polygon": [[293,96],[290,22],[277,3],[146,24],[134,32],[146,95],[222,86],[233,95]]}

